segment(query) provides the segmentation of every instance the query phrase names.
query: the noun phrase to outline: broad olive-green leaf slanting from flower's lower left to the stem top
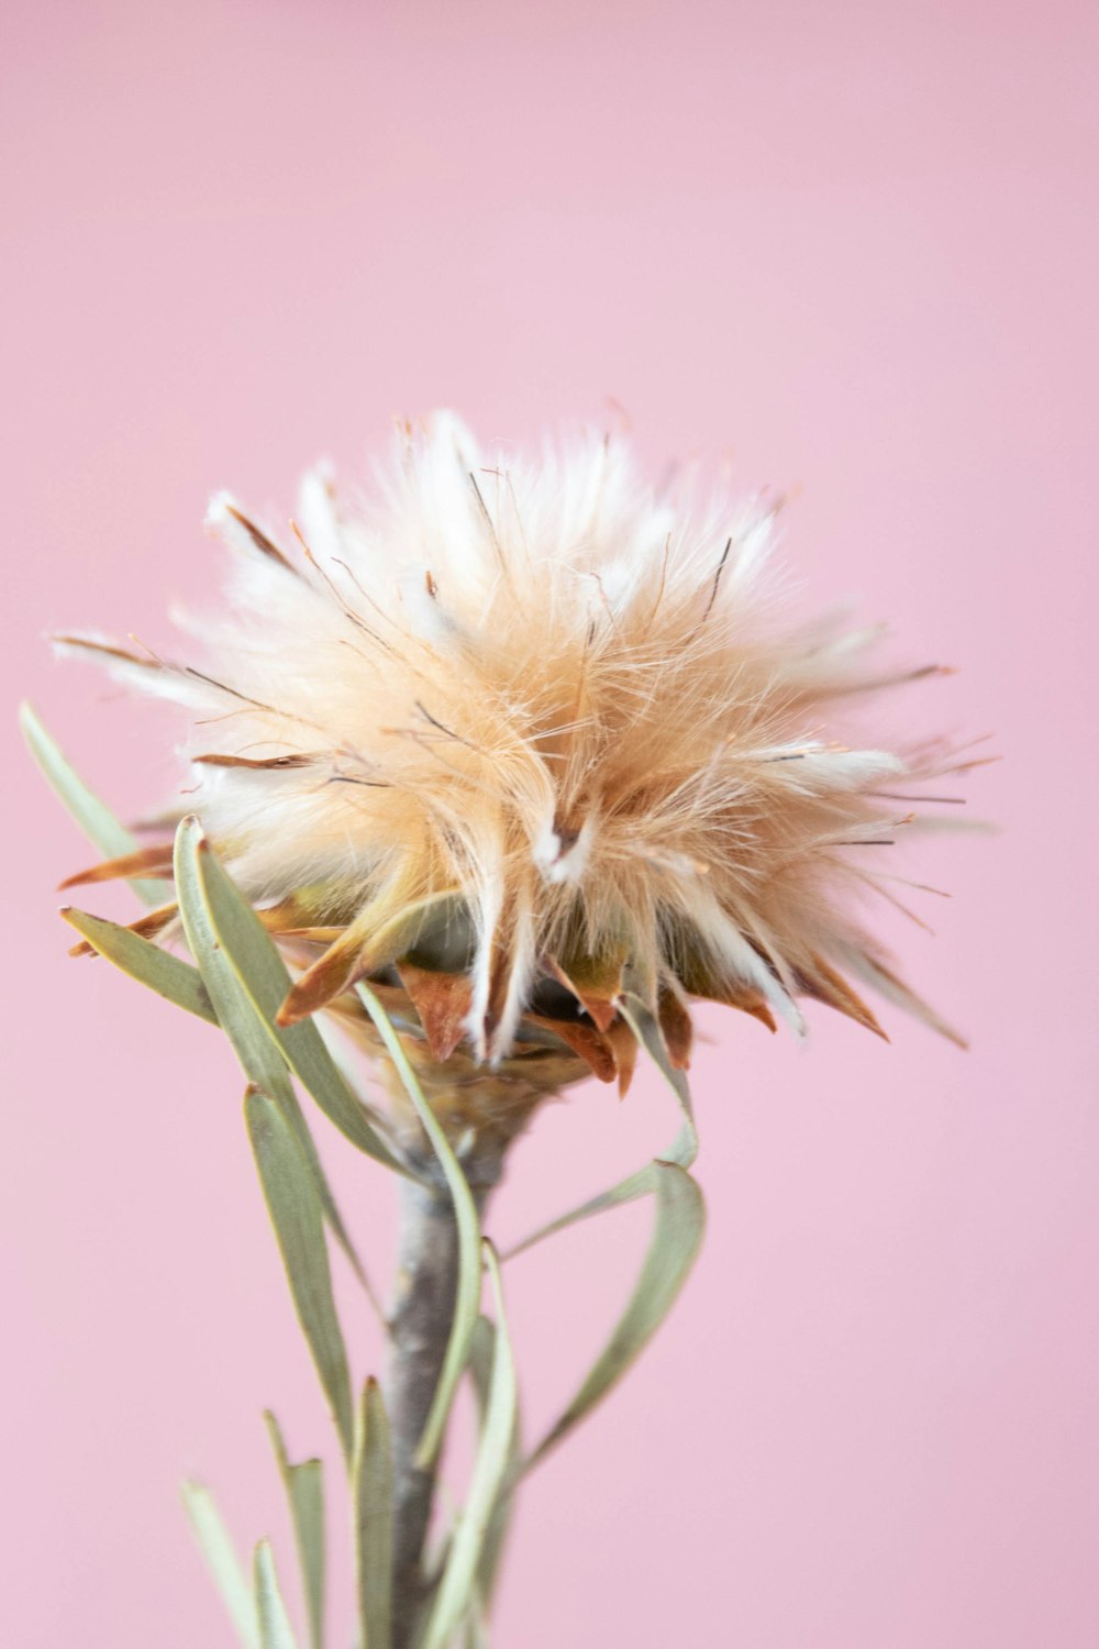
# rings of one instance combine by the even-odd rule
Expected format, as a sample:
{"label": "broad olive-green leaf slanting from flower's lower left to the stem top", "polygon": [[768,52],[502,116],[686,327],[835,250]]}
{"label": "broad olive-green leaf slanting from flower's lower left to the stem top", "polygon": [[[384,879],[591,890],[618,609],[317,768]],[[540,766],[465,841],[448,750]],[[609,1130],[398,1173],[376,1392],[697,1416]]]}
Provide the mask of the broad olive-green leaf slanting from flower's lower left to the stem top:
{"label": "broad olive-green leaf slanting from flower's lower left to the stem top", "polygon": [[353,1144],[386,1167],[407,1172],[371,1126],[315,1022],[302,1019],[295,1026],[275,1024],[275,1014],[293,983],[287,965],[217,854],[201,841],[198,876],[217,943],[229,958],[264,1031],[275,1041],[293,1073]]}

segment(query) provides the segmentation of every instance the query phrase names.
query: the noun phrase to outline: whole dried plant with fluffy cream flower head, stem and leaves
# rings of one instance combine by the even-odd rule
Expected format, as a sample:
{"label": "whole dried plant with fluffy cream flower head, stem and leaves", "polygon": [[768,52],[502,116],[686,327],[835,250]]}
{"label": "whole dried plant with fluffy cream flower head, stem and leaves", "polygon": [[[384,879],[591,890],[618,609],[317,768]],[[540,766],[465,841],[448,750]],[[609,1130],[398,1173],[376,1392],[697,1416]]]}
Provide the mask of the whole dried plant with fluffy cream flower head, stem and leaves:
{"label": "whole dried plant with fluffy cream flower head, stem and leaves", "polygon": [[[367,1649],[483,1641],[516,1482],[672,1304],[702,1232],[692,999],[801,1036],[812,998],[882,1034],[857,994],[868,984],[957,1041],[855,912],[868,894],[896,902],[875,854],[921,828],[921,787],[975,763],[944,742],[845,742],[858,701],[938,666],[883,674],[867,661],[877,632],[793,623],[774,521],[766,503],[702,496],[697,478],[656,495],[601,435],[486,458],[437,416],[400,425],[351,505],[325,470],[308,475],[288,534],[214,500],[231,579],[219,612],[178,620],[198,661],[59,638],[186,709],[201,826],[168,813],[138,846],[28,716],[109,856],[64,886],[124,877],[152,904],[129,928],[68,910],[77,950],[219,1022],[246,1067],[264,1189],[351,1473]],[[384,1110],[343,1075],[333,1029],[377,1057]],[[531,1240],[652,1194],[652,1245],[592,1375],[526,1456],[481,1215],[537,1105],[588,1075],[624,1093],[639,1044],[682,1108],[674,1146]],[[325,1224],[358,1260],[292,1073],[404,1181],[386,1400],[367,1382],[358,1413]],[[496,1329],[479,1316],[483,1260]],[[435,1463],[468,1369],[479,1451],[432,1570]],[[275,1440],[318,1649],[320,1468],[290,1466]],[[191,1507],[242,1639],[290,1642],[267,1547],[249,1588],[204,1491]]]}

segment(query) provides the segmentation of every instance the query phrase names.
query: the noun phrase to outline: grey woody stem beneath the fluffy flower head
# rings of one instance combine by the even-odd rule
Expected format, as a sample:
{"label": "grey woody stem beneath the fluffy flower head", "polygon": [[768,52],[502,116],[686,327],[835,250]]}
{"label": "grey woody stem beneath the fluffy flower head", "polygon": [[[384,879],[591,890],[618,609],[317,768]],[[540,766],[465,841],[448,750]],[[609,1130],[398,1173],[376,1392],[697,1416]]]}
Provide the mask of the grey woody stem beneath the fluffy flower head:
{"label": "grey woody stem beneath the fluffy flower head", "polygon": [[[488,1182],[471,1184],[479,1207],[498,1172],[494,1163]],[[456,1281],[458,1227],[450,1192],[443,1184],[404,1181],[386,1382],[394,1469],[392,1649],[412,1644],[425,1598],[423,1548],[437,1468],[417,1466],[415,1454],[447,1354]]]}

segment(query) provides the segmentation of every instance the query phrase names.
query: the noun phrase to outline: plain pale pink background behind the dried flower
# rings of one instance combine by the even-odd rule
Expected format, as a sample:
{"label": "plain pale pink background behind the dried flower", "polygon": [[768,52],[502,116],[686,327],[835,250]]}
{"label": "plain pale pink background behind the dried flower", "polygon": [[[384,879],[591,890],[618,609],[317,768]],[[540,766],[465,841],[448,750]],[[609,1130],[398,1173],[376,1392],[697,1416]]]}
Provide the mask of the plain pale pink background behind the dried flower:
{"label": "plain pale pink background behind the dried flower", "polygon": [[[28,693],[124,810],[161,724],[56,625],[166,635],[204,500],[285,513],[394,411],[486,435],[628,409],[652,463],[801,488],[789,556],[964,673],[1003,834],[931,844],[895,932],[969,1055],[886,1014],[707,1021],[710,1232],[674,1326],[531,1479],[504,1649],[1099,1641],[1092,674],[1096,13],[1061,3],[21,3],[3,48],[5,1642],[221,1649],[175,1501],[285,1520],[259,1423],[328,1446],[227,1049],[71,963],[87,849],[15,745]],[[112,897],[89,899],[101,910]],[[522,1148],[517,1235],[657,1151],[646,1075]],[[390,1187],[330,1133],[384,1270]],[[545,1423],[643,1210],[509,1271]],[[344,1290],[349,1309],[354,1296]],[[377,1359],[354,1334],[361,1367]],[[344,1633],[334,1634],[343,1644]]]}

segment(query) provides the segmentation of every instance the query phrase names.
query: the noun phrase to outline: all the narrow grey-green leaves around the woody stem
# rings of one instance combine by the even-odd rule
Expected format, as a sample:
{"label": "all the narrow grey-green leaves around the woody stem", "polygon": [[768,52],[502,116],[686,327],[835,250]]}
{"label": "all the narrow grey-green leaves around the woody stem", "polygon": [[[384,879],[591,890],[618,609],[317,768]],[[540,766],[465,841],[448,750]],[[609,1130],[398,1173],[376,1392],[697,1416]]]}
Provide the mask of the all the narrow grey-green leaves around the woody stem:
{"label": "all the narrow grey-green leaves around the woody stem", "polygon": [[[74,773],[28,706],[23,706],[20,721],[48,782],[104,857],[133,851],[135,838]],[[175,877],[194,965],[119,923],[72,909],[64,915],[114,966],[178,1008],[219,1024],[247,1073],[246,1118],[264,1197],[295,1311],[331,1407],[349,1473],[359,1649],[389,1649],[394,1539],[389,1425],[376,1380],[366,1382],[358,1412],[353,1407],[325,1224],[364,1283],[366,1275],[336,1209],[292,1075],[359,1151],[395,1172],[409,1174],[409,1169],[387,1143],[384,1121],[349,1088],[315,1022],[303,1019],[290,1027],[277,1024],[278,1008],[292,984],[290,973],[262,922],[204,841],[196,820],[185,820],[180,826]],[[157,881],[133,881],[132,886],[150,905],[163,904],[171,894],[168,884]],[[699,1252],[704,1204],[699,1186],[687,1172],[699,1148],[690,1093],[682,1073],[669,1064],[652,1014],[638,998],[628,998],[620,1004],[623,1017],[662,1072],[679,1106],[680,1125],[667,1151],[656,1161],[531,1233],[506,1255],[519,1255],[568,1225],[638,1197],[651,1196],[654,1200],[651,1240],[626,1308],[572,1402],[524,1459],[516,1364],[496,1255],[481,1238],[478,1207],[466,1176],[417,1082],[397,1032],[369,988],[358,989],[435,1151],[458,1229],[455,1314],[417,1464],[430,1468],[435,1461],[466,1369],[479,1413],[466,1499],[447,1535],[442,1571],[420,1623],[417,1644],[419,1649],[448,1649],[461,1639],[465,1649],[484,1649],[486,1616],[521,1476],[568,1436],[641,1355],[674,1306]],[[491,1280],[494,1324],[479,1316],[483,1266]],[[290,1507],[308,1646],[325,1649],[323,1466],[320,1459],[292,1463],[278,1423],[270,1413],[265,1418]],[[242,1649],[298,1649],[269,1542],[260,1540],[255,1547],[249,1580],[209,1491],[188,1482],[183,1499]]]}

